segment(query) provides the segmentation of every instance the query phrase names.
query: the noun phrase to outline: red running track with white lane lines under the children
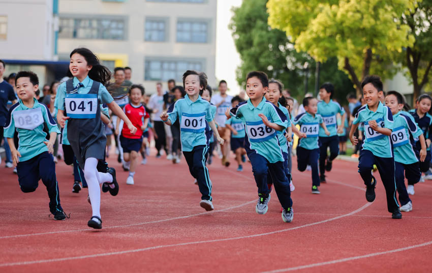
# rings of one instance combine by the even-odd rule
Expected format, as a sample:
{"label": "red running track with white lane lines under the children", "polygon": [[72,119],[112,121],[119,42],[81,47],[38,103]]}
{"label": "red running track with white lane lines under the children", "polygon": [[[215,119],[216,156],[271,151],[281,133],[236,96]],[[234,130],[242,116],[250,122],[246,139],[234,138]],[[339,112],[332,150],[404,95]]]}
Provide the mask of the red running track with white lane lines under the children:
{"label": "red running track with white lane lines under the children", "polygon": [[[295,161],[295,160],[294,160]],[[234,160],[231,161],[234,163]],[[21,193],[11,169],[0,169],[0,272],[431,272],[432,183],[417,184],[414,210],[392,220],[384,187],[367,203],[356,163],[336,160],[321,195],[310,172],[294,170],[294,221],[284,223],[275,193],[266,215],[255,213],[257,188],[244,172],[210,165],[215,210],[184,160],[151,157],[126,185],[113,159],[118,196],[102,194],[103,229],[87,227],[86,189],[71,192],[72,169],[56,165],[60,198],[71,218],[48,218],[43,184]],[[295,169],[295,164],[293,166]]]}

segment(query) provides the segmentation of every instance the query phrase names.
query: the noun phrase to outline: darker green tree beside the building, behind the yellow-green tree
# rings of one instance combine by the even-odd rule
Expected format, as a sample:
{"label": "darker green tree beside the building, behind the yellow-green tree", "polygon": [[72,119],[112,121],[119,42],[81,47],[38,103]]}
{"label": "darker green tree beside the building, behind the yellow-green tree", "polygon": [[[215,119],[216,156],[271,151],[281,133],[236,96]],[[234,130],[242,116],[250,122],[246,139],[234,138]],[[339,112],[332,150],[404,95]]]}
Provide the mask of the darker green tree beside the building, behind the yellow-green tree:
{"label": "darker green tree beside the building, behind the yellow-green tree", "polygon": [[[315,60],[305,52],[297,52],[285,32],[269,27],[266,3],[267,0],[248,0],[233,9],[229,27],[241,58],[236,71],[237,82],[244,86],[246,74],[260,70],[281,80],[291,95],[300,99],[305,93],[304,64],[307,62],[307,92],[314,93]],[[352,82],[338,70],[336,58],[321,64],[320,81],[333,82],[336,90],[341,90],[338,93],[341,102],[347,93],[353,91]]]}

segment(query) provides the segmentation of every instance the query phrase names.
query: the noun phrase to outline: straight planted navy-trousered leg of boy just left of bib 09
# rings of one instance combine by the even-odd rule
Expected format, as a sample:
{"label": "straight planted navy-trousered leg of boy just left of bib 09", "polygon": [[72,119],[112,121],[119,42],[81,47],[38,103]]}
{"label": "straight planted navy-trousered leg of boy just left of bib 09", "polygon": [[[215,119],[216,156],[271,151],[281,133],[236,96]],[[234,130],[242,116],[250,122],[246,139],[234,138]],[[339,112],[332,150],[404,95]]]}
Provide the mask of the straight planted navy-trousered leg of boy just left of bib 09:
{"label": "straight planted navy-trousered leg of boy just left of bib 09", "polygon": [[380,172],[381,180],[387,196],[387,209],[389,213],[393,213],[399,208],[396,200],[396,185],[394,182],[394,158],[375,157],[375,164]]}

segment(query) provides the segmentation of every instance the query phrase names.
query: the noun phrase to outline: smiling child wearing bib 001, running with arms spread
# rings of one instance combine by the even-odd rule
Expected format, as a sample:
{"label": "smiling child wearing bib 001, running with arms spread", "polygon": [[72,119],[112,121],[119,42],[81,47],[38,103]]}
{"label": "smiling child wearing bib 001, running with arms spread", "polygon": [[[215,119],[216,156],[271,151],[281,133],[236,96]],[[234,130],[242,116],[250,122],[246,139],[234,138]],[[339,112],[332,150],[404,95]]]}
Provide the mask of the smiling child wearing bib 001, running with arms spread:
{"label": "smiling child wearing bib 001, running with arms spread", "polygon": [[219,143],[224,140],[219,136],[210,110],[210,103],[201,99],[200,92],[207,86],[205,73],[188,70],[183,74],[183,86],[187,95],[170,106],[168,112],[161,114],[161,119],[172,125],[177,118],[180,120],[180,140],[184,158],[192,176],[197,179],[201,192],[200,206],[205,210],[213,210],[211,197],[211,180],[205,166],[207,159],[206,123],[213,130]]}

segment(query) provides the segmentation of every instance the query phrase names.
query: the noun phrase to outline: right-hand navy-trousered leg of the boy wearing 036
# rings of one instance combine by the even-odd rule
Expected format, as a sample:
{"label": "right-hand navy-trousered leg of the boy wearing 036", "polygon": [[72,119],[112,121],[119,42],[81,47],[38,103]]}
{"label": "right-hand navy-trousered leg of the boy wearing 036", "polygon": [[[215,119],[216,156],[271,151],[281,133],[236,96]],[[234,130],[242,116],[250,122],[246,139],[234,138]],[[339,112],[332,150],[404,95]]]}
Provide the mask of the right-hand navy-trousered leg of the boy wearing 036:
{"label": "right-hand navy-trousered leg of the boy wearing 036", "polygon": [[[317,162],[318,164],[318,162]],[[277,198],[283,208],[287,209],[292,207],[293,202],[291,200],[291,190],[290,190],[290,178],[287,177],[284,170],[284,162],[278,161],[276,163],[268,164],[268,172],[273,180],[274,190],[276,191]]]}

